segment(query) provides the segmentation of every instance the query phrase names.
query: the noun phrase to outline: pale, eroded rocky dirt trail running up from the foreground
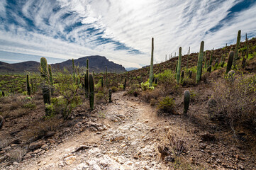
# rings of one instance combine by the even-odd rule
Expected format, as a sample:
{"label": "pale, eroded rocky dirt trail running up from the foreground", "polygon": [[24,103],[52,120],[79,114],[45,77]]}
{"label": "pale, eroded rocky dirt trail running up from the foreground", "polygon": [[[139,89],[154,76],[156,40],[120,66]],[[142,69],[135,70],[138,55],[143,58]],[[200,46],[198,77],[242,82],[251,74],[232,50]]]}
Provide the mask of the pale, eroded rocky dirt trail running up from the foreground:
{"label": "pale, eroded rocky dirt trail running up from the foreground", "polygon": [[[40,157],[28,159],[13,169],[166,169],[157,145],[166,120],[136,98],[113,94],[113,103],[101,106],[93,125],[68,137]],[[10,167],[9,167],[10,168]]]}

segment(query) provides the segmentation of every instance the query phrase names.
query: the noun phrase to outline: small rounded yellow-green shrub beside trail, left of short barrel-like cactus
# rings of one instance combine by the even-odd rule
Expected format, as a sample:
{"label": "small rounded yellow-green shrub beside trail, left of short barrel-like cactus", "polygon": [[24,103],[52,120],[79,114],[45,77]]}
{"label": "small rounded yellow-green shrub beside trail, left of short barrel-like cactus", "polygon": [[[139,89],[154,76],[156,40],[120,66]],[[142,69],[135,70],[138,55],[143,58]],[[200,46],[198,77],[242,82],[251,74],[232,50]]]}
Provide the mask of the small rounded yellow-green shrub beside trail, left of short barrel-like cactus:
{"label": "small rounded yellow-green shrub beside trail, left of short barrel-like cactus", "polygon": [[174,113],[175,101],[173,98],[166,96],[157,104],[157,108],[164,113]]}

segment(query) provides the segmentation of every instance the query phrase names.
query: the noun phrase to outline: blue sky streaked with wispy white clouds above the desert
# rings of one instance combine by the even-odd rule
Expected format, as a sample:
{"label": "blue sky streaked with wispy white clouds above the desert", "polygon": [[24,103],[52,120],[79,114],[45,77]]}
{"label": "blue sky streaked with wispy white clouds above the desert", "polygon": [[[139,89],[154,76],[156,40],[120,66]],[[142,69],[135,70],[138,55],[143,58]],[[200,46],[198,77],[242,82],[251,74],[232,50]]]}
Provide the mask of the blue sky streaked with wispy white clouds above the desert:
{"label": "blue sky streaked with wispy white clouds above the desert", "polygon": [[0,61],[49,63],[103,55],[124,67],[165,61],[256,35],[256,1],[1,0]]}

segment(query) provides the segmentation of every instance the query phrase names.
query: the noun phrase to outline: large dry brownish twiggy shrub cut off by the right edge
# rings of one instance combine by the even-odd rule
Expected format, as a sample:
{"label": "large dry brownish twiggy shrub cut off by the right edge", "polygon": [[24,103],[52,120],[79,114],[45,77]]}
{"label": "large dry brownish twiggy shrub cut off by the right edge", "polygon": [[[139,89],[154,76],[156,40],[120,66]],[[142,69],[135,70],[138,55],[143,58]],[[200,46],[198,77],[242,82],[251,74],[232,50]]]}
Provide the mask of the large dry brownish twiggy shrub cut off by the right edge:
{"label": "large dry brownish twiggy shrub cut off by the right edge", "polygon": [[213,99],[216,107],[211,108],[213,117],[221,117],[233,123],[256,125],[256,75],[242,75],[233,84],[216,84]]}

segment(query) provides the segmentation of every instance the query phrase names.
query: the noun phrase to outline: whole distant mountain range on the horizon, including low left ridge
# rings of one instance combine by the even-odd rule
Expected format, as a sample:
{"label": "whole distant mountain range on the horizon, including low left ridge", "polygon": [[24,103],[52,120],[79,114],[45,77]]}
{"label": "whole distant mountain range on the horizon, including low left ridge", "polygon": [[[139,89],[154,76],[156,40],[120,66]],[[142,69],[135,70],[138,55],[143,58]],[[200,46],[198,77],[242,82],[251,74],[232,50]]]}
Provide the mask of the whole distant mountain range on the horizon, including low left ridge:
{"label": "whole distant mountain range on the horizon, including low left ridge", "polygon": [[[87,59],[89,60],[89,70],[95,73],[105,72],[106,67],[108,72],[126,72],[126,69],[121,64],[116,64],[114,62],[108,61],[106,57],[95,55],[88,57],[81,57],[74,60],[74,64],[79,67],[86,67]],[[68,70],[72,70],[72,60],[67,60],[65,62],[51,64],[54,69],[63,69],[64,67]],[[0,72],[1,73],[21,73],[21,72],[39,72],[40,63],[39,62],[19,62],[14,64],[9,64],[6,62],[0,62]]]}

